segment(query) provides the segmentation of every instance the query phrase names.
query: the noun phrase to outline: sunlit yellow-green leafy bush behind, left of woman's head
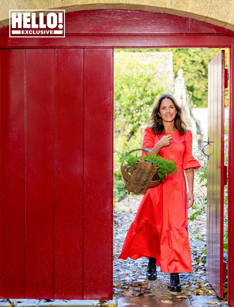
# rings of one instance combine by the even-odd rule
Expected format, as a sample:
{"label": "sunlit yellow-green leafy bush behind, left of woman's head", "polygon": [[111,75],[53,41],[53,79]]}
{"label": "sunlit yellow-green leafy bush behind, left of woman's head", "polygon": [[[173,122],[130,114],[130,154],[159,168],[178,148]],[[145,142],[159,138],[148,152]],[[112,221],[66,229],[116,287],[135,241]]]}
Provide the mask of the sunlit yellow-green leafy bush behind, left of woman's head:
{"label": "sunlit yellow-green leafy bush behind, left of woman's head", "polygon": [[127,145],[130,138],[145,125],[157,97],[164,92],[154,73],[154,66],[140,59],[115,55],[114,62],[115,136]]}

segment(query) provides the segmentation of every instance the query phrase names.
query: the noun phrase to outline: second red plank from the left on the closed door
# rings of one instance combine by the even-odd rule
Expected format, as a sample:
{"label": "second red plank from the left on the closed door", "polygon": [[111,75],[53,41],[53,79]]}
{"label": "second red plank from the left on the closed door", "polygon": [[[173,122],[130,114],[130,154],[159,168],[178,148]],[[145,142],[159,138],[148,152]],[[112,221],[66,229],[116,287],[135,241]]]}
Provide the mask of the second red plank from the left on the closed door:
{"label": "second red plank from the left on the closed door", "polygon": [[26,50],[25,296],[53,298],[54,50]]}

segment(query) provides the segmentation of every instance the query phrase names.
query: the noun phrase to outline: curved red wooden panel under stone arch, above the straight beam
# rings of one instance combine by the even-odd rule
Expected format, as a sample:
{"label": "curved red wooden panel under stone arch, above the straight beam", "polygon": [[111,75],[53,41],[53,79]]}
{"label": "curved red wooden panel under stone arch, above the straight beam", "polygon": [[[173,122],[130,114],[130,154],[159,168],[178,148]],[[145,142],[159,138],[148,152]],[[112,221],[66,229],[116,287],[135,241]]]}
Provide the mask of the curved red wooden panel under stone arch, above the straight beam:
{"label": "curved red wooden panel under stone arch, above the straight beam", "polygon": [[[65,18],[66,34],[233,33],[231,30],[207,22],[141,10],[81,10],[66,13]],[[9,34],[9,26],[0,29],[0,33]]]}

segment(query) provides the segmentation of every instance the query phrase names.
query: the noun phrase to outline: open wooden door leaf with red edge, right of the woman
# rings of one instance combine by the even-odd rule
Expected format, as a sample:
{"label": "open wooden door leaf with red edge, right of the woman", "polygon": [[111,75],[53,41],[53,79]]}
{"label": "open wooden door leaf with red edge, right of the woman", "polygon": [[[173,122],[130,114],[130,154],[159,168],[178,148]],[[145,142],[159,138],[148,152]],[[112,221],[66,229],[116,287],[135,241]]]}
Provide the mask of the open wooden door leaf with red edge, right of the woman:
{"label": "open wooden door leaf with red edge, right of the woman", "polygon": [[225,51],[208,65],[206,279],[223,297]]}

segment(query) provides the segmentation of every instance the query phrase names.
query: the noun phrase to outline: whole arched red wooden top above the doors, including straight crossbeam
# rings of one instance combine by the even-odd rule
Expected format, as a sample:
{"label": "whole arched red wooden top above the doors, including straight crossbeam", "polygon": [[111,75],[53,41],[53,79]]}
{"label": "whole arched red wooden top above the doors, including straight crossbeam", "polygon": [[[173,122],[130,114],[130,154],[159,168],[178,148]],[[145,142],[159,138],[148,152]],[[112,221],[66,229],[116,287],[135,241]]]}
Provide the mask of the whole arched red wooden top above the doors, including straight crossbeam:
{"label": "whole arched red wooden top above the doors, including straight crossbeam", "polygon": [[137,10],[86,10],[66,13],[65,19],[65,38],[9,38],[7,26],[0,29],[0,46],[153,48],[234,45],[231,30],[170,14]]}

